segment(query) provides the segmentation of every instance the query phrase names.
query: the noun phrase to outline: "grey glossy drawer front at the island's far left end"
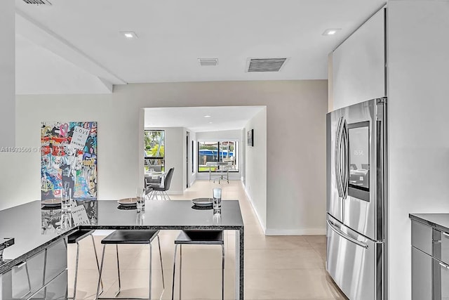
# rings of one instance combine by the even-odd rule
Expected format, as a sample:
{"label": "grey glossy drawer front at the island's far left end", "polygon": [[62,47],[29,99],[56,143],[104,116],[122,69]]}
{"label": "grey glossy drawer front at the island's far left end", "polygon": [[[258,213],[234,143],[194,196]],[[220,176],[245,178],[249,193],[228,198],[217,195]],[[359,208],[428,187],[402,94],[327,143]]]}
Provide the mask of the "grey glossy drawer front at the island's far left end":
{"label": "grey glossy drawer front at the island's far left end", "polygon": [[13,266],[1,275],[1,296],[6,299],[25,299],[43,286],[45,251]]}

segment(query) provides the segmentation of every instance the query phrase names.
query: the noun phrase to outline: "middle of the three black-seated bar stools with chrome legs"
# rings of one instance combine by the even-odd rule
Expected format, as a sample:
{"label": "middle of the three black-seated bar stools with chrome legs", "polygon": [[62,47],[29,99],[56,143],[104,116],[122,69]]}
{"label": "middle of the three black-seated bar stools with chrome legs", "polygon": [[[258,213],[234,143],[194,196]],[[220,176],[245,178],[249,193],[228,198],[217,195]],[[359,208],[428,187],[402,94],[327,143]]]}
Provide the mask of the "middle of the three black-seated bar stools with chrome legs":
{"label": "middle of the three black-seated bar stools with chrome legs", "polygon": [[99,298],[98,290],[100,289],[100,280],[102,275],[103,263],[105,261],[105,247],[107,244],[115,244],[116,245],[116,254],[117,254],[117,273],[119,275],[119,289],[117,290],[114,299],[135,299],[133,297],[123,297],[119,298],[117,295],[121,291],[120,284],[120,263],[119,263],[119,244],[149,244],[149,292],[148,298],[138,297],[137,299],[152,299],[152,241],[157,237],[157,242],[159,245],[159,256],[161,258],[161,273],[162,273],[162,286],[163,290],[161,293],[160,299],[162,299],[162,294],[165,290],[165,282],[163,280],[163,265],[162,265],[162,252],[161,252],[161,240],[159,239],[159,230],[115,230],[113,233],[105,237],[101,243],[103,244],[103,252],[100,266],[100,278],[98,280],[97,286],[97,295],[95,299],[112,299],[109,298]]}

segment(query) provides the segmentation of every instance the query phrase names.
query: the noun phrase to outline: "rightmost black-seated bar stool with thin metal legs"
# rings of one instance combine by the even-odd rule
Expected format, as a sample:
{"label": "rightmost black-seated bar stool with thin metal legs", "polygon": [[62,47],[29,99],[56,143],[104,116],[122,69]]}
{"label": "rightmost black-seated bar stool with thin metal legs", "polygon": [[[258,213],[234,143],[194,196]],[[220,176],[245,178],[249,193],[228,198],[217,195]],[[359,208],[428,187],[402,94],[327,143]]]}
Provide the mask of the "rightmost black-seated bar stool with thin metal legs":
{"label": "rightmost black-seated bar stool with thin metal legs", "polygon": [[182,244],[217,244],[222,247],[222,299],[225,299],[225,240],[222,230],[182,230],[175,239],[175,256],[173,259],[173,285],[171,299],[175,295],[176,251],[180,245],[180,300],[181,300],[181,269]]}

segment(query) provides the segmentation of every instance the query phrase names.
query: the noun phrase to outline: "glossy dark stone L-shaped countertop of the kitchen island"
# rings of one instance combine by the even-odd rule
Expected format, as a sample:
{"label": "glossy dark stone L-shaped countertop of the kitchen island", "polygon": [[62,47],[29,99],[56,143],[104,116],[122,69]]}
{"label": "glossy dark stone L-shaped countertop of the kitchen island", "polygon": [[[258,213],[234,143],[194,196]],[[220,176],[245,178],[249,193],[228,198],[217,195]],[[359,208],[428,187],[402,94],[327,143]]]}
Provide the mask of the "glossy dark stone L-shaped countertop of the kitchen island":
{"label": "glossy dark stone L-shaped countertop of the kitchen island", "polygon": [[[42,249],[78,229],[210,229],[241,230],[243,219],[238,200],[223,200],[221,218],[212,209],[194,209],[190,200],[147,200],[145,211],[119,209],[115,200],[95,201],[90,224],[61,228],[60,209],[41,209],[41,201],[0,211],[0,237],[14,237],[15,244],[4,250],[0,273],[25,261]],[[44,221],[45,216],[45,221]],[[50,216],[50,217],[49,217]],[[67,216],[67,214],[66,214]],[[50,224],[52,223],[52,224]],[[48,229],[50,228],[50,229]]]}

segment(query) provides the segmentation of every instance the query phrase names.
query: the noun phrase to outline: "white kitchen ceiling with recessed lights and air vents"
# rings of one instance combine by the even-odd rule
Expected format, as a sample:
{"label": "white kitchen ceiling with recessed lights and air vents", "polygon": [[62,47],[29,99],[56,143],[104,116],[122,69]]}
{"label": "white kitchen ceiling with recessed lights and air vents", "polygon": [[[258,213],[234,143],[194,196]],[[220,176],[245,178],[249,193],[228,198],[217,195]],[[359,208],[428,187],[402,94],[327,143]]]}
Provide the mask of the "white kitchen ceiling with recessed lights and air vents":
{"label": "white kitchen ceiling with recessed lights and air vents", "polygon": [[[67,93],[91,93],[99,80],[98,93],[111,92],[112,84],[137,82],[327,79],[328,53],[385,3],[50,1],[52,6],[36,6],[15,0],[17,93],[60,93],[65,88]],[[342,30],[325,37],[328,28]],[[121,31],[139,38],[128,40]],[[267,57],[288,61],[281,72],[245,72],[248,58]],[[198,58],[218,58],[219,63],[200,67]],[[65,67],[61,59],[93,78],[83,79],[88,84],[76,82],[81,71]],[[66,81],[53,82],[58,74]],[[51,87],[56,84],[57,89]]]}

